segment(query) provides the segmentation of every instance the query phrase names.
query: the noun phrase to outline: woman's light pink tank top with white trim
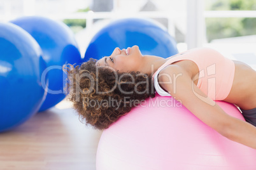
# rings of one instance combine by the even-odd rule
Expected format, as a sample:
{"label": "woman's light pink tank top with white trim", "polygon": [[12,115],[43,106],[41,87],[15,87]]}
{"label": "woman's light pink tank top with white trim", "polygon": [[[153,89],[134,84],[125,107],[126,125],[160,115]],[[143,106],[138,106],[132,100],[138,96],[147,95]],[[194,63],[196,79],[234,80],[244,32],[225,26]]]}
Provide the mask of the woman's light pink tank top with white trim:
{"label": "woman's light pink tank top with white trim", "polygon": [[234,62],[225,58],[214,49],[195,48],[171,56],[170,59],[153,74],[152,79],[154,81],[154,87],[160,96],[171,96],[159,86],[158,75],[160,70],[171,63],[181,60],[190,60],[196,63],[199,69],[197,87],[212,100],[224,100],[229,95],[234,80]]}

